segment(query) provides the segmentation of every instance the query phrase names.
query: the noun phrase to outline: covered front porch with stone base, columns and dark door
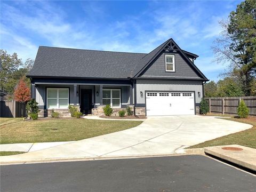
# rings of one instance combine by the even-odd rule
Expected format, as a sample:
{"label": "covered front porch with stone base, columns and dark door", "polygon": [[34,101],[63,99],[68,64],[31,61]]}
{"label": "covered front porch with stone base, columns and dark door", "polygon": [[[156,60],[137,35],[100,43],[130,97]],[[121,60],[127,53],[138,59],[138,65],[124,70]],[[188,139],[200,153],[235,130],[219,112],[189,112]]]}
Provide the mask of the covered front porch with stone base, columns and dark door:
{"label": "covered front porch with stone base, columns and dark door", "polygon": [[31,96],[39,106],[39,117],[51,116],[52,110],[60,116],[70,116],[69,105],[74,105],[87,115],[102,116],[103,107],[110,105],[114,113],[127,106],[134,108],[134,89],[130,82],[63,83],[34,82]]}

